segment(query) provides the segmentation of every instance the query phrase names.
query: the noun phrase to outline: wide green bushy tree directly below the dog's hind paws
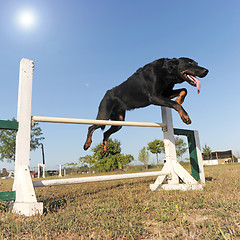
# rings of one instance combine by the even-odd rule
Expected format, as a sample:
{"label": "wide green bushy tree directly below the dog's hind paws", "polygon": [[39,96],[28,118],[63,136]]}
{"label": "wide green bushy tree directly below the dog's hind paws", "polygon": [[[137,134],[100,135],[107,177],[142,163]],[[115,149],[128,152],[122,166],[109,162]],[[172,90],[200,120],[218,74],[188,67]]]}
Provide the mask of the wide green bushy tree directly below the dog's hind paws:
{"label": "wide green bushy tree directly below the dog's hind paws", "polygon": [[92,149],[93,155],[80,157],[80,163],[87,163],[90,167],[100,171],[122,169],[134,160],[130,154],[121,154],[121,143],[117,140],[108,140],[107,152],[102,155],[102,145],[98,144]]}

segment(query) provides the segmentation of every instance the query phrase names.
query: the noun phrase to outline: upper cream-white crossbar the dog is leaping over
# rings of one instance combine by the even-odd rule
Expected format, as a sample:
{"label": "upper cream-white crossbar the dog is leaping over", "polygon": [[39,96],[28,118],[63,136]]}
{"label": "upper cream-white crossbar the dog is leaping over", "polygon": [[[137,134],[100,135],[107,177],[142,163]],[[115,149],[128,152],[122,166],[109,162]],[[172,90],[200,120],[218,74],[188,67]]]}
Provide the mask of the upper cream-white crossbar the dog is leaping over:
{"label": "upper cream-white crossbar the dog is leaping over", "polygon": [[161,127],[161,128],[166,127],[166,124],[164,123],[108,121],[108,120],[40,117],[40,116],[33,116],[32,123],[34,122],[73,123],[73,124],[89,124],[89,125],[95,124],[95,125],[133,126],[133,127]]}

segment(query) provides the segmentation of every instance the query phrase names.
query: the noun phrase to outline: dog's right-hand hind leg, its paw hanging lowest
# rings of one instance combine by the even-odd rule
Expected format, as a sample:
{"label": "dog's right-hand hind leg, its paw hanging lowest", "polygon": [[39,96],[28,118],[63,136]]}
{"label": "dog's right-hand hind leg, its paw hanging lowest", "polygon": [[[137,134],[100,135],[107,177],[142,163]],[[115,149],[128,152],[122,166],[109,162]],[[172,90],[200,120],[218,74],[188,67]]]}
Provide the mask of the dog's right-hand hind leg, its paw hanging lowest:
{"label": "dog's right-hand hind leg, its paw hanging lowest", "polygon": [[[120,113],[115,112],[114,110],[112,111],[111,114],[111,120],[115,121],[124,121],[125,119],[125,111],[121,111]],[[109,137],[119,131],[122,128],[122,126],[111,126],[105,133],[104,133],[104,138],[103,138],[103,144],[102,144],[102,155],[105,155],[107,152],[107,141]]]}

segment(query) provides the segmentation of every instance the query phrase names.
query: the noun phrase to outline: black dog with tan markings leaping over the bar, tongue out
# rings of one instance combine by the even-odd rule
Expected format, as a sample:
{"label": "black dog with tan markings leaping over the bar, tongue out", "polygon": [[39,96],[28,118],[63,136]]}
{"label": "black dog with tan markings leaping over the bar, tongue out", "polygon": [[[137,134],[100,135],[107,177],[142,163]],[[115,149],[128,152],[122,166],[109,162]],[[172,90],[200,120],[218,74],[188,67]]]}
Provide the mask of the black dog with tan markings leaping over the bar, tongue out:
{"label": "black dog with tan markings leaping over the bar, tongue out", "polygon": [[[126,110],[142,108],[151,104],[170,107],[178,111],[182,121],[190,124],[191,120],[183,109],[182,103],[187,95],[187,90],[181,88],[173,90],[176,83],[187,81],[200,91],[200,81],[195,77],[205,77],[206,68],[198,66],[198,63],[189,58],[161,58],[139,68],[125,82],[111,90],[108,90],[102,99],[97,120],[124,121]],[[175,101],[171,99],[177,97]],[[92,143],[93,132],[103,125],[92,125],[88,128],[87,140],[84,150]],[[107,140],[111,134],[121,129],[121,126],[111,126],[104,133],[103,154],[107,151]]]}

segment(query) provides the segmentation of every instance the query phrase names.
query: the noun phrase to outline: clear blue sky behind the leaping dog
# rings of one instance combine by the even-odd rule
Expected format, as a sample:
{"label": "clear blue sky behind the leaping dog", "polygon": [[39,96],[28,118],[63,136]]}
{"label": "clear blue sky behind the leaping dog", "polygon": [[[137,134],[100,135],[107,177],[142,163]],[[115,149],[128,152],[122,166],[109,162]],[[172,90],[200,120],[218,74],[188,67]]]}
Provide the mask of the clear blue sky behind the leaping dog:
{"label": "clear blue sky behind the leaping dog", "polygon": [[[35,25],[19,24],[30,9]],[[32,115],[94,119],[106,90],[139,67],[162,57],[190,57],[209,69],[201,93],[187,83],[184,107],[192,124],[173,113],[174,127],[198,130],[201,145],[214,151],[239,145],[240,2],[162,0],[35,0],[0,2],[0,119],[17,115],[19,62],[35,63]],[[178,86],[177,86],[178,87]],[[127,112],[128,121],[161,122],[160,108]],[[90,154],[82,146],[88,126],[41,123],[47,168]],[[113,135],[123,153],[137,159],[149,141],[163,139],[153,128],[124,127]],[[102,132],[93,136],[100,143]],[[151,156],[152,161],[155,156]],[[31,167],[41,151],[31,153]],[[13,164],[0,162],[0,168]]]}

